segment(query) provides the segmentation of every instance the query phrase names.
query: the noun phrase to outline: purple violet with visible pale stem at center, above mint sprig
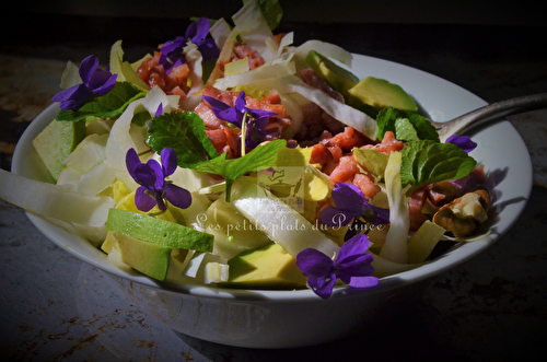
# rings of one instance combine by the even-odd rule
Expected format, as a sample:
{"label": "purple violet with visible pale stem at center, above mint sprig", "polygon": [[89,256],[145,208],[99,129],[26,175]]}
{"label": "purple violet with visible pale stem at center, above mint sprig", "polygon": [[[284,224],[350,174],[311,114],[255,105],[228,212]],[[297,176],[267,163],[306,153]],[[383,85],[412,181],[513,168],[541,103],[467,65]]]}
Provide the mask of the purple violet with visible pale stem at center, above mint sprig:
{"label": "purple violet with visible pale stem at center, above mint sprig", "polygon": [[264,140],[268,135],[264,128],[270,117],[277,116],[275,112],[247,108],[245,92],[240,92],[234,107],[208,95],[203,95],[203,100],[209,103],[217,118],[231,122],[240,129],[246,128],[245,145],[249,149],[254,149]]}

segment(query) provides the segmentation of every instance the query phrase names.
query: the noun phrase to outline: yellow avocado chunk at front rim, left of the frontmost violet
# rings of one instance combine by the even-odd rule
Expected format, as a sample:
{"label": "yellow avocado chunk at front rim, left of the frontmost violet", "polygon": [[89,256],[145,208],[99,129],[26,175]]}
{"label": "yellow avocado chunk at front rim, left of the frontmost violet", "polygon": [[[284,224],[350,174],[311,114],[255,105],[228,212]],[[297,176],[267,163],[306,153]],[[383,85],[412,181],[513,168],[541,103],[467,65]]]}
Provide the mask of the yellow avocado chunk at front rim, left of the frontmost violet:
{"label": "yellow avocado chunk at front rim, left of the frontmost violet", "polygon": [[223,283],[233,288],[303,288],[307,278],[294,258],[279,244],[268,244],[240,254],[228,261],[230,278]]}

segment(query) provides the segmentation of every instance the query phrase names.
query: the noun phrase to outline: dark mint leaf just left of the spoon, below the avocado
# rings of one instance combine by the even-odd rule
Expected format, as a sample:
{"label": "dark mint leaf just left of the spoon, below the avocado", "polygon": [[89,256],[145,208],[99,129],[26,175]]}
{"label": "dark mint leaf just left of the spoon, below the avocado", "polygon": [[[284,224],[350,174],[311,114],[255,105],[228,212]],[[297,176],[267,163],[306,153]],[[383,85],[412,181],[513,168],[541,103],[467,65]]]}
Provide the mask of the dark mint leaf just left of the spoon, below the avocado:
{"label": "dark mint leaf just left of the spoon, below the avocado", "polygon": [[[377,137],[380,140],[384,138],[385,132],[392,131],[397,140],[403,140],[399,137],[401,135],[397,133],[397,128],[395,124],[397,119],[406,118],[412,125],[416,133],[420,140],[432,140],[440,142],[439,133],[431,122],[426,118],[416,113],[396,109],[393,107],[387,107],[379,112],[376,116],[376,124],[379,126]],[[406,132],[405,135],[408,135]]]}

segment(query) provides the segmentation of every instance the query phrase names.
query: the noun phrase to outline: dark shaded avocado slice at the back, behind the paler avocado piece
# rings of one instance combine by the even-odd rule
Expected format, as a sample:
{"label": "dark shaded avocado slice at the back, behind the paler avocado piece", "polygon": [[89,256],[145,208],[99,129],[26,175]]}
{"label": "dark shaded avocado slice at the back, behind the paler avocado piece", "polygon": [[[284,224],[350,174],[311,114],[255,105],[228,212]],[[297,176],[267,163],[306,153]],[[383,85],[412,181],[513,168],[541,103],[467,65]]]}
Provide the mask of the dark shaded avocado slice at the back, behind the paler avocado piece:
{"label": "dark shaded avocado slice at the back, behind the paler avocado piece", "polygon": [[331,89],[339,92],[345,98],[348,98],[348,90],[359,82],[359,78],[356,74],[341,68],[315,50],[310,50],[305,60]]}

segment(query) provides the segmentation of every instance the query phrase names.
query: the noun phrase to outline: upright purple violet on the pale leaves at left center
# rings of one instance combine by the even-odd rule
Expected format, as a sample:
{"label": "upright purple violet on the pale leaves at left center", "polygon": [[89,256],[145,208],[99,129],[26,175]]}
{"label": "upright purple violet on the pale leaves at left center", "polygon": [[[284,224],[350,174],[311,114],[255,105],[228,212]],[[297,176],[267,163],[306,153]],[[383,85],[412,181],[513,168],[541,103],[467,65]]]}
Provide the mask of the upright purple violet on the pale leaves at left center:
{"label": "upright purple violet on the pale leaves at left center", "polygon": [[162,163],[149,160],[141,163],[135,149],[129,149],[126,154],[127,171],[140,185],[135,195],[135,205],[141,211],[148,212],[154,206],[162,211],[167,210],[165,200],[181,209],[186,209],[191,203],[188,190],[165,182],[177,166],[176,153],[172,149],[163,149],[160,154]]}

